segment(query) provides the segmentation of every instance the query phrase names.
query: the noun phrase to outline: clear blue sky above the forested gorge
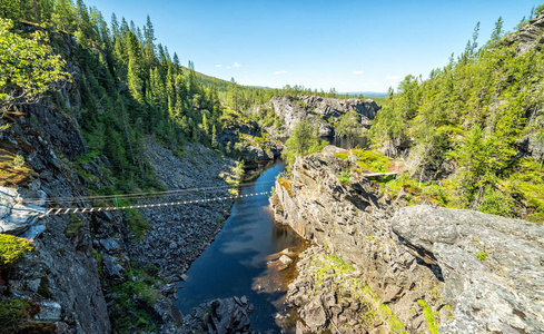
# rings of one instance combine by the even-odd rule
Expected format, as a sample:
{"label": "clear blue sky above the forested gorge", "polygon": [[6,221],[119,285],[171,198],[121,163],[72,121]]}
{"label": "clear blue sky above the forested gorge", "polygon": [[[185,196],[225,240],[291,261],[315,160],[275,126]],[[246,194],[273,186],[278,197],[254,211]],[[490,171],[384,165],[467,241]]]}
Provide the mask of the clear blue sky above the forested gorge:
{"label": "clear blue sky above the forested gorge", "polygon": [[87,0],[139,27],[197,71],[241,85],[386,91],[406,75],[426,77],[459,55],[481,21],[479,45],[498,17],[513,30],[531,0],[207,1]]}

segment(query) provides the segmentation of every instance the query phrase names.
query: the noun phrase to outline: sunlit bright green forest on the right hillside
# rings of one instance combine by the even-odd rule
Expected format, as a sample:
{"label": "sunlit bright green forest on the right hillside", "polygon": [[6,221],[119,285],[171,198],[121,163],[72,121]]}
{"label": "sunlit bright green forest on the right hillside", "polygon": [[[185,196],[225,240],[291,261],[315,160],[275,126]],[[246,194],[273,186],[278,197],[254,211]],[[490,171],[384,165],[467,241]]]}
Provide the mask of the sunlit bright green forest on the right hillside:
{"label": "sunlit bright green forest on the right hillside", "polygon": [[417,163],[409,177],[419,200],[543,220],[544,156],[523,143],[543,145],[544,55],[521,47],[516,35],[526,24],[505,33],[498,19],[479,47],[478,23],[457,59],[389,90],[370,139],[389,157]]}

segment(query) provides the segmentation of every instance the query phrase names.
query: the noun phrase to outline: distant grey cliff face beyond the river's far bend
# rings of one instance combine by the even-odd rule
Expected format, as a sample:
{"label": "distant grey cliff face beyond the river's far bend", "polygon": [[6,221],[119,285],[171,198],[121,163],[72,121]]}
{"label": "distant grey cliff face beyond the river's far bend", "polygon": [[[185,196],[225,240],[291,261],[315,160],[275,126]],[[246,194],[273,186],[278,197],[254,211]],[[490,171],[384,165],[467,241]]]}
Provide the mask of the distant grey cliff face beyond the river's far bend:
{"label": "distant grey cliff face beyond the river's far bend", "polygon": [[269,129],[270,132],[277,132],[279,137],[289,137],[295,125],[305,119],[310,119],[318,125],[319,136],[333,137],[335,130],[332,124],[352,110],[360,115],[360,125],[368,128],[370,121],[376,117],[376,112],[382,108],[372,99],[365,101],[359,99],[340,100],[316,96],[273,97],[268,105],[283,120],[279,130]]}

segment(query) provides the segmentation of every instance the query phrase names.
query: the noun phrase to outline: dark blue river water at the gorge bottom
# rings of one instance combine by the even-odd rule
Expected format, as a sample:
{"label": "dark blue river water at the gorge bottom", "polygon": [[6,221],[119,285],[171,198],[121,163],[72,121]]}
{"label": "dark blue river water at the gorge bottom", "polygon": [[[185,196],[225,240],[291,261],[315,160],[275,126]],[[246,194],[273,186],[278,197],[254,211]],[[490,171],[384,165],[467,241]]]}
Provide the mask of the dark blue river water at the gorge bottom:
{"label": "dark blue river water at the gorge bottom", "polygon": [[[241,185],[240,193],[269,191],[276,175],[285,169],[276,161],[260,173],[250,184]],[[251,325],[259,332],[280,332],[274,315],[280,310],[286,284],[273,282],[273,287],[256,286],[255,282],[267,273],[270,255],[293,247],[299,249],[303,240],[290,228],[274,223],[268,207],[268,196],[244,197],[235,200],[230,217],[211,245],[197,258],[187,282],[178,284],[176,305],[184,314],[206,299],[246,295],[254,304]],[[270,285],[270,279],[265,279]]]}

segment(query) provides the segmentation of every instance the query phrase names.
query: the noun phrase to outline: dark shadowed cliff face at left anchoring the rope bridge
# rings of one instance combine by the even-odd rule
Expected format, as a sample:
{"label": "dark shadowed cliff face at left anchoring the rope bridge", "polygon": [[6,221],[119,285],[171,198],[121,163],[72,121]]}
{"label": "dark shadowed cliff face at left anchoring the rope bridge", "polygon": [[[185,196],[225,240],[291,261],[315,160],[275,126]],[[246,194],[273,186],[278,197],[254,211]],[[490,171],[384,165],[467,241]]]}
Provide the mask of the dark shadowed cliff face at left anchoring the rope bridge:
{"label": "dark shadowed cliff face at left anchoring the rope bridge", "polygon": [[[78,199],[86,195],[85,179],[70,167],[86,147],[77,125],[65,114],[42,106],[24,111],[26,117],[3,131],[0,146],[23,156],[31,171],[18,188],[0,187],[0,230],[33,239],[33,250],[17,264],[8,287],[13,295],[41,306],[38,321],[57,323],[58,328],[108,333],[106,301],[91,256],[91,217],[41,216],[56,206],[90,205]],[[107,160],[97,158],[91,164],[101,166]],[[30,199],[32,203],[26,203]],[[95,224],[102,222],[100,216],[92,218]],[[49,294],[39,294],[40,285]]]}

